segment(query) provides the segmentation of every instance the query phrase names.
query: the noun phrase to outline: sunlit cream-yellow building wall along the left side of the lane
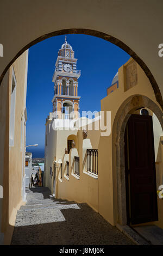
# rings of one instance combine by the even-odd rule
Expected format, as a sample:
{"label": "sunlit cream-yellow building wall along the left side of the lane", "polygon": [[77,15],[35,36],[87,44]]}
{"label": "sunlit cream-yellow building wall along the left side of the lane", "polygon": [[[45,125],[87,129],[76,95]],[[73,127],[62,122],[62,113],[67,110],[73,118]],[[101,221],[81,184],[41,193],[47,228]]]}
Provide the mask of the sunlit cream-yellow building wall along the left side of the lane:
{"label": "sunlit cream-yellow building wall along the left side of the lane", "polygon": [[[17,210],[26,201],[26,90],[28,51],[9,68],[0,88],[1,102],[1,242],[9,244]],[[7,97],[7,101],[6,101]],[[5,120],[5,121],[4,121]],[[5,126],[4,126],[5,124]]]}

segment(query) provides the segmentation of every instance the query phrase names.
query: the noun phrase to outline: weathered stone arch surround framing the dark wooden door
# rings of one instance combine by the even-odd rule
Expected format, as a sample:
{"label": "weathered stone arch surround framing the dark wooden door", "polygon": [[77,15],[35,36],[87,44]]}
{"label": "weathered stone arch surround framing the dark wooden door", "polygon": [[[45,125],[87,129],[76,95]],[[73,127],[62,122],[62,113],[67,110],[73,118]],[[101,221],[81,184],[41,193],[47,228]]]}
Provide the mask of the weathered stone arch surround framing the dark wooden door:
{"label": "weathered stone arch surround framing the dark wooden door", "polygon": [[[158,105],[143,95],[130,96],[123,102],[115,117],[113,130],[116,131],[116,137],[113,139],[113,147],[116,145],[116,175],[117,175],[117,213],[118,223],[127,224],[126,216],[126,182],[125,182],[125,157],[124,157],[124,131],[127,121],[132,112],[137,108],[147,107],[159,119],[163,130],[163,113]],[[114,169],[114,167],[113,167]]]}

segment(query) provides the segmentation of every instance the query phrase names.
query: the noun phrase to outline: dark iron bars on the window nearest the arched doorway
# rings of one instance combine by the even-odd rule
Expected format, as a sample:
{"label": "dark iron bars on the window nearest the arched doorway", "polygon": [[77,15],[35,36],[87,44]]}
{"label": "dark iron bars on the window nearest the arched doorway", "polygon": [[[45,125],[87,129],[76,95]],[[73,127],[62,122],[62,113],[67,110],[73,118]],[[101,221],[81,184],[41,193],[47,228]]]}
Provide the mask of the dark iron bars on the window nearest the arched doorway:
{"label": "dark iron bars on the window nearest the arched doorway", "polygon": [[87,172],[98,175],[98,149],[87,149]]}

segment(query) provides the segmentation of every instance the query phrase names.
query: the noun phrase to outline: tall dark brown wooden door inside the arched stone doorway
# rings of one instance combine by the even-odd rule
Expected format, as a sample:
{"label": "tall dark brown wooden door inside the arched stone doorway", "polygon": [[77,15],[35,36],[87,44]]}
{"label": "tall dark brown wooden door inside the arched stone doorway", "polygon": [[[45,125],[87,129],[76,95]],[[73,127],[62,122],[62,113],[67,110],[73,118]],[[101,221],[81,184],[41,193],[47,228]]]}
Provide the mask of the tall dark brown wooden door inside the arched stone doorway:
{"label": "tall dark brown wooden door inside the arched stone doorway", "polygon": [[127,218],[131,224],[158,220],[153,123],[150,115],[133,114],[124,136]]}

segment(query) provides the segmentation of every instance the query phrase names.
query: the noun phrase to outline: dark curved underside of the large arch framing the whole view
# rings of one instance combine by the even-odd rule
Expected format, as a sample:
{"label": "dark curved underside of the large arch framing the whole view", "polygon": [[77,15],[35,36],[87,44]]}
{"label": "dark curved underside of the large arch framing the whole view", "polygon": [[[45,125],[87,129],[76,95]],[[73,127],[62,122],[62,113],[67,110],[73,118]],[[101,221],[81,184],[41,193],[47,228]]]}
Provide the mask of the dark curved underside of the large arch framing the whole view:
{"label": "dark curved underside of the large arch framing the whole view", "polygon": [[0,86],[1,86],[1,83],[2,83],[2,80],[3,80],[3,77],[4,77],[5,73],[8,71],[8,69],[10,68],[12,63],[14,63],[15,60],[19,56],[21,56],[21,54],[24,51],[26,51],[29,47],[37,44],[38,42],[41,42],[41,41],[43,41],[45,39],[48,39],[48,38],[51,38],[52,36],[64,35],[64,34],[85,34],[85,35],[96,36],[98,38],[102,38],[106,41],[109,41],[112,44],[115,44],[116,46],[120,47],[122,50],[126,51],[141,66],[142,70],[145,72],[146,76],[148,77],[149,81],[152,84],[156,100],[159,102],[161,108],[163,109],[163,100],[162,100],[162,95],[161,95],[160,89],[158,87],[158,84],[155,81],[154,76],[152,75],[151,71],[149,70],[149,68],[147,67],[145,62],[143,62],[143,60],[139,56],[137,56],[137,54],[133,50],[131,50],[131,48],[129,46],[124,44],[124,42],[122,42],[121,40],[115,38],[112,35],[105,34],[103,32],[95,31],[95,30],[92,30],[92,29],[86,29],[86,28],[70,28],[70,29],[61,29],[60,31],[54,31],[54,32],[51,32],[51,33],[48,33],[48,34],[44,34],[44,35],[40,36],[39,38],[36,38],[35,40],[30,42],[29,44],[27,44],[26,46],[24,46],[16,54],[16,56],[10,61],[10,63],[6,66],[6,68],[2,72],[2,74],[0,76]]}

